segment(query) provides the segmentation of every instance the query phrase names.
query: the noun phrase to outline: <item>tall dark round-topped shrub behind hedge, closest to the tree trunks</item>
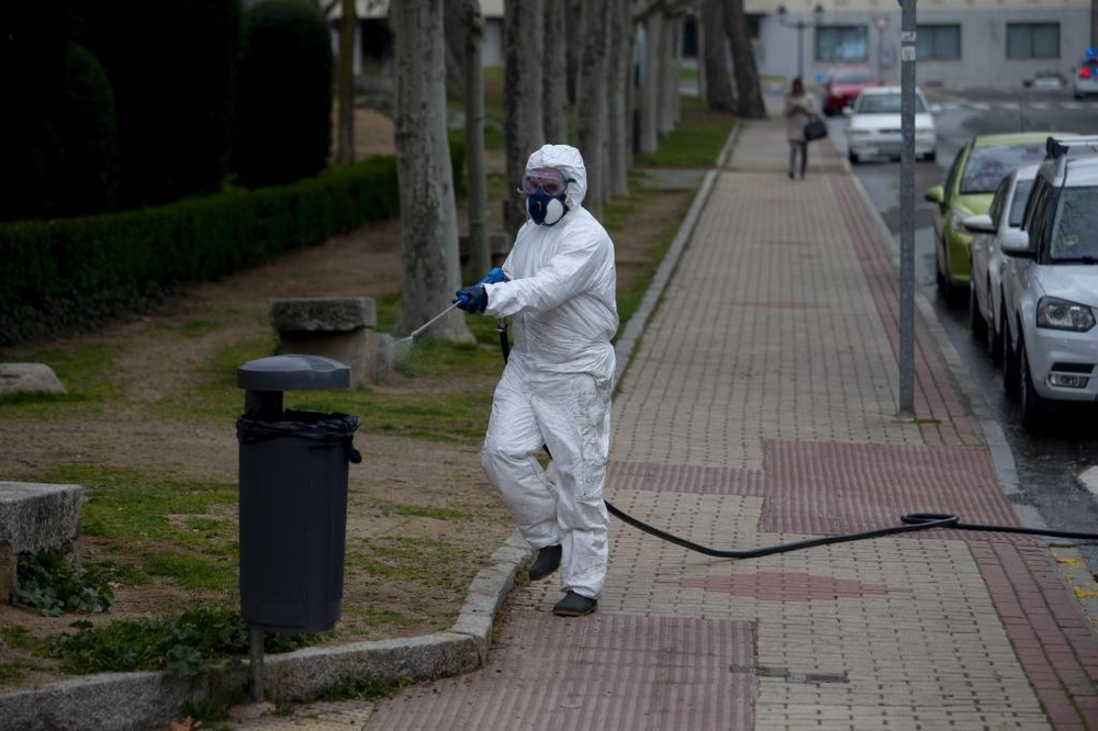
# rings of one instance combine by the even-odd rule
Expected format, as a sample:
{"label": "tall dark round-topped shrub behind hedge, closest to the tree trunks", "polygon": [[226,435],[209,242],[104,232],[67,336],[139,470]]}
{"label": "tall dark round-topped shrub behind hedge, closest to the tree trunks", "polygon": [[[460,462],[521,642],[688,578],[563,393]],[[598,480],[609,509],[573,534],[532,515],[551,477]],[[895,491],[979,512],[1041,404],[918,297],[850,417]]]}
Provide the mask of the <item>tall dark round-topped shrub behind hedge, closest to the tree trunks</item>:
{"label": "tall dark round-topped shrub behind hedge, closest to the tree trunks", "polygon": [[248,188],[317,175],[332,145],[332,40],[309,0],[260,0],[244,13],[233,171]]}

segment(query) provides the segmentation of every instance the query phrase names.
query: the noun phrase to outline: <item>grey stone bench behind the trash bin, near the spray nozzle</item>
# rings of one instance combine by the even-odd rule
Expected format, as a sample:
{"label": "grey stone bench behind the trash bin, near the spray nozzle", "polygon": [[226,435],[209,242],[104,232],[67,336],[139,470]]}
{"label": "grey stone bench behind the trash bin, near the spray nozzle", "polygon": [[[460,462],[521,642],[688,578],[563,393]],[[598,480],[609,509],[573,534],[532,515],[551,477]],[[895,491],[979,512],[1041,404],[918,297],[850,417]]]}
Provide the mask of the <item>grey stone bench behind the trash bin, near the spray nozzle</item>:
{"label": "grey stone bench behind the trash bin, near the spray nozzle", "polygon": [[271,297],[271,327],[282,355],[324,356],[346,363],[352,383],[366,383],[393,367],[393,337],[376,333],[372,297]]}

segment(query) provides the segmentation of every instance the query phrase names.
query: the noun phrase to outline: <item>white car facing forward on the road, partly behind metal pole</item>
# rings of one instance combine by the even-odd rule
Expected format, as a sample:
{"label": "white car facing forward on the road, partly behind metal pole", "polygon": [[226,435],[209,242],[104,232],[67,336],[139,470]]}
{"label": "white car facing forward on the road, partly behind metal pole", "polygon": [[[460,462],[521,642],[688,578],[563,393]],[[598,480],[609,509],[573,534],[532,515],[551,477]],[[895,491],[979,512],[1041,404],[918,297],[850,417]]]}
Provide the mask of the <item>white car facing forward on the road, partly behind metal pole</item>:
{"label": "white car facing forward on the road, partly behind metal pole", "polygon": [[[899,158],[903,138],[900,87],[863,89],[847,114],[847,159],[878,156]],[[915,90],[915,156],[933,160],[938,156],[938,133],[922,91]]]}

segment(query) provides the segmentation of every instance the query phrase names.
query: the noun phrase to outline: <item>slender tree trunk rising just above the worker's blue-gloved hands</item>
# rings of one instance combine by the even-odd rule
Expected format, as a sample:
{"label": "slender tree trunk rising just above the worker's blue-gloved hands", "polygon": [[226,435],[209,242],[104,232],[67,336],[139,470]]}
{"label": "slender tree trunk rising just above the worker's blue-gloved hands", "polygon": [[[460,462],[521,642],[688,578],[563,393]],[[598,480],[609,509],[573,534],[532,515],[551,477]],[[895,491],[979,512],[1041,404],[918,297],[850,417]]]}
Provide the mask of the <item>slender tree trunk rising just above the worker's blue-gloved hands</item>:
{"label": "slender tree trunk rising just above the worker's blue-gloved hands", "polygon": [[469,216],[469,265],[477,278],[492,268],[492,251],[488,244],[488,192],[484,182],[484,18],[479,0],[461,0],[461,19],[466,30],[464,101],[466,101],[466,207]]}

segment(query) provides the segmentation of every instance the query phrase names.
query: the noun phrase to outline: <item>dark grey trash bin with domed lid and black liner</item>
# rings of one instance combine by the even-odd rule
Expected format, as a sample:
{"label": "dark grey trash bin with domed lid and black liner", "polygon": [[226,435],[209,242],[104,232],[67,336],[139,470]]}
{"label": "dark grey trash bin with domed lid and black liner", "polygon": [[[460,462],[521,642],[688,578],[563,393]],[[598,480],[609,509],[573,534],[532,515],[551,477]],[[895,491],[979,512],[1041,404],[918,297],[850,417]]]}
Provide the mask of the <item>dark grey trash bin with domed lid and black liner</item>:
{"label": "dark grey trash bin with domed lid and black liner", "polygon": [[330,629],[343,603],[347,463],[359,418],[282,408],[284,391],[346,389],[350,369],[320,356],[242,366],[240,614],[254,630]]}

